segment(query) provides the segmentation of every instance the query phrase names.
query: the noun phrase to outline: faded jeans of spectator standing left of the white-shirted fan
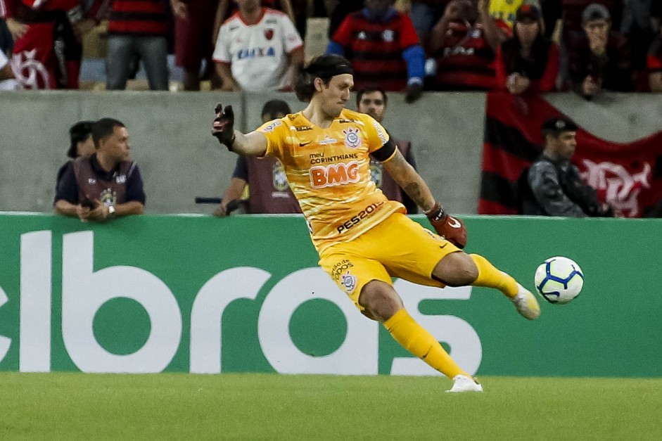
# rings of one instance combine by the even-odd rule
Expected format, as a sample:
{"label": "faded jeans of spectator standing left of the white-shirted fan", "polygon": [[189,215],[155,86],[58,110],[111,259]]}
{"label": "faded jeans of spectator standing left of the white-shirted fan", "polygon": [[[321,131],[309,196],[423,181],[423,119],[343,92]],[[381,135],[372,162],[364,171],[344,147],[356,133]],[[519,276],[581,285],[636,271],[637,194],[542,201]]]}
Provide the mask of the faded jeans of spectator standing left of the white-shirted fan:
{"label": "faded jeans of spectator standing left of the white-shirted fan", "polygon": [[106,89],[124,90],[132,56],[138,54],[147,72],[151,90],[168,90],[167,42],[165,37],[109,35],[106,58]]}

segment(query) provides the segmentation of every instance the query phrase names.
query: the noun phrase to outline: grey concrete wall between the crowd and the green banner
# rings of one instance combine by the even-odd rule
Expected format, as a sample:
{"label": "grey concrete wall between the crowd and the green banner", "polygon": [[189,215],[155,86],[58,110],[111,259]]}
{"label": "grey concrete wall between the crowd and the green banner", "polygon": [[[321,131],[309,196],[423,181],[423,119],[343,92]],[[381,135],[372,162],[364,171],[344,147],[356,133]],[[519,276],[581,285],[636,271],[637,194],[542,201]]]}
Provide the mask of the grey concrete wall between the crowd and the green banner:
{"label": "grey concrete wall between the crowd and the green banner", "polygon": [[[257,127],[262,104],[272,98],[284,99],[293,110],[302,108],[293,94],[0,93],[0,211],[51,211],[68,128],[78,120],[110,116],[129,129],[132,158],[145,181],[147,212],[211,212],[212,207],[193,200],[220,196],[236,161],[210,136],[215,104],[232,104],[238,128],[246,130]],[[607,95],[590,103],[572,94],[548,99],[611,141],[632,141],[662,129],[659,96]],[[413,142],[419,172],[433,193],[452,212],[475,213],[485,94],[426,94],[414,105],[390,94],[388,103],[384,124],[395,137]]]}

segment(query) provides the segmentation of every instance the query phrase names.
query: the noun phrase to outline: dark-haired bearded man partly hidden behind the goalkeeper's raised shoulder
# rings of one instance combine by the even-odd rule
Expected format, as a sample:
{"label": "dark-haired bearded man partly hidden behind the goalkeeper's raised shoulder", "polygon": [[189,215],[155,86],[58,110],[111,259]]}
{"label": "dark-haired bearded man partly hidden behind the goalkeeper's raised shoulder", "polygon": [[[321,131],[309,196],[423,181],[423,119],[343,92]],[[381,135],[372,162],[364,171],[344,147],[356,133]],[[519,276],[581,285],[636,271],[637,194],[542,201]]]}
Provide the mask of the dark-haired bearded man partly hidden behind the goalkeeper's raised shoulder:
{"label": "dark-haired bearded man partly hidden behind the goalkeeper's raised shoulder", "polygon": [[[386,114],[386,103],[388,96],[386,92],[381,89],[368,88],[360,90],[356,95],[356,107],[361,113],[367,113],[379,123],[382,124],[384,115]],[[409,162],[414,170],[416,170],[416,160],[414,160],[414,152],[412,151],[412,143],[409,141],[402,141],[393,139],[402,156]],[[416,203],[407,196],[400,186],[397,185],[395,180],[390,177],[390,174],[384,170],[383,164],[370,156],[370,177],[374,181],[377,188],[379,188],[384,196],[390,200],[397,200],[405,205],[407,213],[415,215],[418,211]]]}

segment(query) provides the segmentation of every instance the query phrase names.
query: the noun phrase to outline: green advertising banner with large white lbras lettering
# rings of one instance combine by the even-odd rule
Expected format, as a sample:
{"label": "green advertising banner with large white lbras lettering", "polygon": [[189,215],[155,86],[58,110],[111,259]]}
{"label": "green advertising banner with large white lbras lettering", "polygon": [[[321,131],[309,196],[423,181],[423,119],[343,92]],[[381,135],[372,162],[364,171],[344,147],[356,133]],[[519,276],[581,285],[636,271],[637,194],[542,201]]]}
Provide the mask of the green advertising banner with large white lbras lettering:
{"label": "green advertising banner with large white lbras lettering", "polygon": [[[424,217],[414,217],[426,224]],[[662,220],[467,217],[469,253],[533,289],[585,273],[536,321],[496,290],[397,280],[410,314],[471,373],[662,376]],[[0,215],[0,370],[426,375],[322,269],[303,217]]]}

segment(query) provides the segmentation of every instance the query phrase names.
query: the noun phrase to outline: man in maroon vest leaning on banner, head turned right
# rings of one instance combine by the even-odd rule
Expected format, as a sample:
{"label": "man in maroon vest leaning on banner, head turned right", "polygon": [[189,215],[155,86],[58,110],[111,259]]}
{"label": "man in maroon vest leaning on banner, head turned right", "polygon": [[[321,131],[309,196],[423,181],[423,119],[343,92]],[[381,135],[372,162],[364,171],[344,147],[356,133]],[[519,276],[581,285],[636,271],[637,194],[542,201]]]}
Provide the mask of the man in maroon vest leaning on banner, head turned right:
{"label": "man in maroon vest leaning on banner, head turned right", "polygon": [[83,222],[141,215],[145,192],[140,170],[129,160],[129,132],[122,122],[101,118],[92,124],[96,152],[68,167],[56,188],[55,211]]}

